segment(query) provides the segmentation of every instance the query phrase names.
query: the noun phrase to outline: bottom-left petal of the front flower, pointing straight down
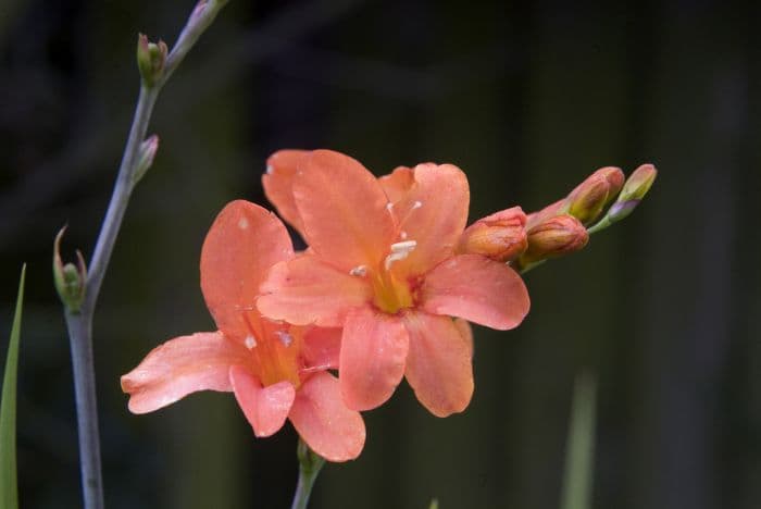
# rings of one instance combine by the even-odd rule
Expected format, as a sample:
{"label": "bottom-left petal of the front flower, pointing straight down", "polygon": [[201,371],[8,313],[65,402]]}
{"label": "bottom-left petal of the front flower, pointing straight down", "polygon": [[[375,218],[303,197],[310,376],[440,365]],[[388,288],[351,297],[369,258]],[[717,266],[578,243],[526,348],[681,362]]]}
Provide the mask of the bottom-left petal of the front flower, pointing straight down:
{"label": "bottom-left petal of the front flower, pointing straight down", "polygon": [[371,410],[391,397],[404,374],[409,336],[401,320],[359,308],[341,337],[340,385],[346,406]]}

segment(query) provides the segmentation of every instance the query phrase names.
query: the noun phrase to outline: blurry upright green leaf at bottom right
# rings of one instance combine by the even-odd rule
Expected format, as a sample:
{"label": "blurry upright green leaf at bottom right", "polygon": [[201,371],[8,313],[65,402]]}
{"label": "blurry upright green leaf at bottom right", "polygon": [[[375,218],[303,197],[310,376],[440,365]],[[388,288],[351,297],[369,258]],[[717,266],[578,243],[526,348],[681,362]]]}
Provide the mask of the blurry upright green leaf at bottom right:
{"label": "blurry upright green leaf at bottom right", "polygon": [[569,425],[562,509],[589,509],[595,470],[595,408],[597,385],[588,373],[576,377]]}

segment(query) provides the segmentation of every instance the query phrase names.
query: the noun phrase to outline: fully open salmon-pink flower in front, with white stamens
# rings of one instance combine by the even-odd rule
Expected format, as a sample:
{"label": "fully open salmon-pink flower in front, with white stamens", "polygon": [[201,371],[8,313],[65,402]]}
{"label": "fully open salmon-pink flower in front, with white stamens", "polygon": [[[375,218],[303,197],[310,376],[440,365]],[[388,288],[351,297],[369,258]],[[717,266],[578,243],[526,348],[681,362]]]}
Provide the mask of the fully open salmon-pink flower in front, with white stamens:
{"label": "fully open salmon-pink flower in front, with white stamens", "polygon": [[259,310],[299,325],[344,326],[339,383],[349,408],[382,405],[407,377],[432,413],[464,410],[473,394],[471,332],[452,316],[508,330],[528,311],[511,268],[456,253],[467,220],[465,175],[451,164],[420,164],[376,179],[338,152],[282,156],[269,161],[267,196],[310,250],[273,266]]}

